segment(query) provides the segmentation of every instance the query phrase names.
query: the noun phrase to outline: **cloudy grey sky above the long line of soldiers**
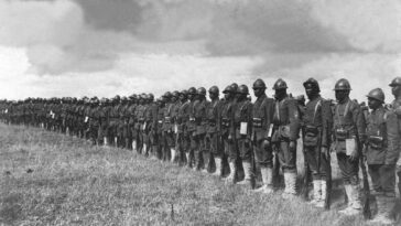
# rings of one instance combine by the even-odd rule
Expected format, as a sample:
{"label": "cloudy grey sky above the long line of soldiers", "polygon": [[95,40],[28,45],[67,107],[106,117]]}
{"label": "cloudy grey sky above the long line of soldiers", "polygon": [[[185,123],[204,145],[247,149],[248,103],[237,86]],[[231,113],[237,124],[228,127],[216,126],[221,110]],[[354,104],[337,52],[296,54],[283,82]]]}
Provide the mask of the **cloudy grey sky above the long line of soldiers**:
{"label": "cloudy grey sky above the long line of soldiers", "polygon": [[401,76],[401,0],[0,0],[0,98]]}

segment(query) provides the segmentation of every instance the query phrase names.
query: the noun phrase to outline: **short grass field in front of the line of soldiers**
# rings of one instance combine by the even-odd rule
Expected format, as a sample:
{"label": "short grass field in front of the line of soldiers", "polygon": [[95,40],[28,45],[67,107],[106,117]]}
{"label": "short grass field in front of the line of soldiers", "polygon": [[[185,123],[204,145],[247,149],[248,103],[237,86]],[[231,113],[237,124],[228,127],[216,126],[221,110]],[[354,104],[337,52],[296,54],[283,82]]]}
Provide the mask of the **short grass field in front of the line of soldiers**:
{"label": "short grass field in front of the line of soldiers", "polygon": [[[3,225],[365,225],[127,150],[0,125]],[[338,191],[337,191],[338,193]]]}

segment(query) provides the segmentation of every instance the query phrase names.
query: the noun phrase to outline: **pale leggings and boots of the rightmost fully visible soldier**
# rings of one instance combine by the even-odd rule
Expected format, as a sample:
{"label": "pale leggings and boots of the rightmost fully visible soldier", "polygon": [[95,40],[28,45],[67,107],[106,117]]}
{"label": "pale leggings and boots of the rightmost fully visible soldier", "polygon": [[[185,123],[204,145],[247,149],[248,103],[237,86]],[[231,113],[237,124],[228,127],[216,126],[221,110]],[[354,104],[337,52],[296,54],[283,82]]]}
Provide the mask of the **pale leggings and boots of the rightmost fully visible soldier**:
{"label": "pale leggings and boots of the rightmost fully visible soldier", "polygon": [[395,220],[391,216],[392,208],[395,204],[394,197],[388,197],[384,195],[378,195],[376,197],[378,214],[375,216],[371,223],[379,223],[381,225],[393,225]]}

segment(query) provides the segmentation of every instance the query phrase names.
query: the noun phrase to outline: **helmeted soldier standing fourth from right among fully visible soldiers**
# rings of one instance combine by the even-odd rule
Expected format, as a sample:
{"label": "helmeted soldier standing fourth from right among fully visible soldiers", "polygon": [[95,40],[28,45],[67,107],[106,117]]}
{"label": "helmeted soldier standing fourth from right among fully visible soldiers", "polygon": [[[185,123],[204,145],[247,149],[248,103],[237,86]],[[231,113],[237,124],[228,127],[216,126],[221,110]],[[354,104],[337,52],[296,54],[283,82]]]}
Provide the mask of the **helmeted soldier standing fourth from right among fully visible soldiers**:
{"label": "helmeted soldier standing fourth from right among fully visible soldiers", "polygon": [[283,79],[278,79],[273,89],[275,108],[272,142],[278,150],[284,173],[283,197],[288,198],[296,195],[296,140],[300,133],[300,112],[296,100],[286,94],[288,86]]}

